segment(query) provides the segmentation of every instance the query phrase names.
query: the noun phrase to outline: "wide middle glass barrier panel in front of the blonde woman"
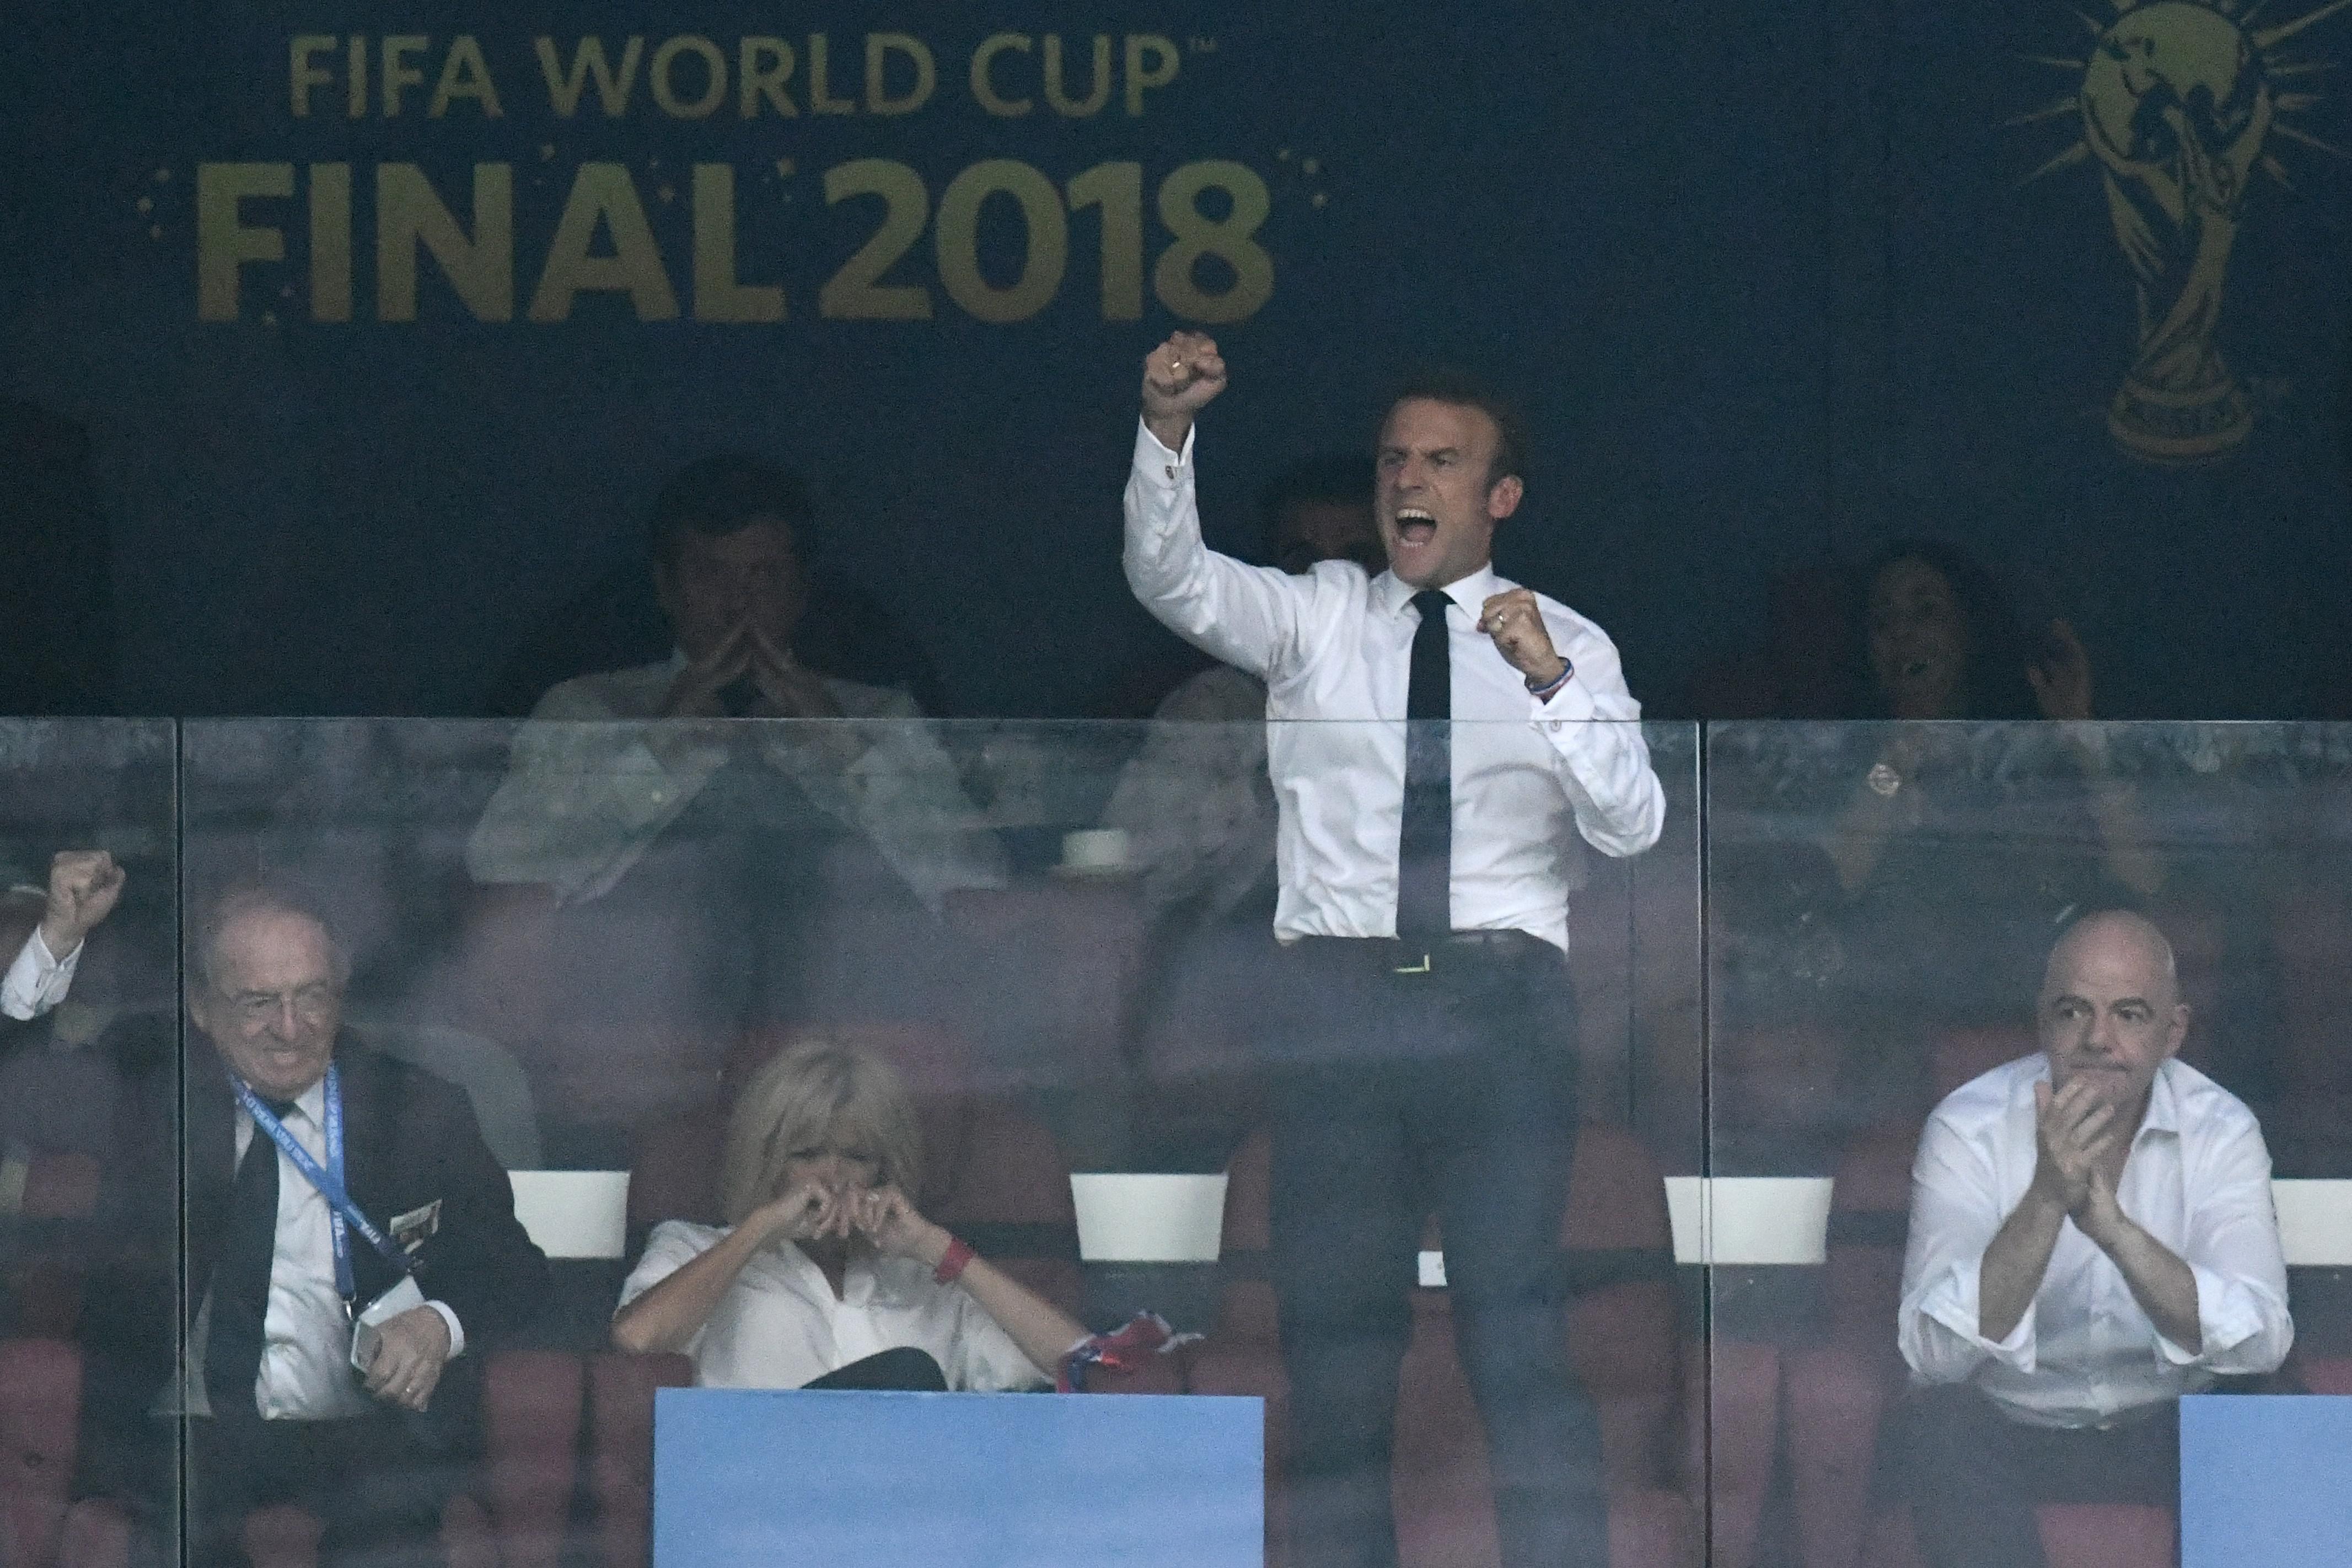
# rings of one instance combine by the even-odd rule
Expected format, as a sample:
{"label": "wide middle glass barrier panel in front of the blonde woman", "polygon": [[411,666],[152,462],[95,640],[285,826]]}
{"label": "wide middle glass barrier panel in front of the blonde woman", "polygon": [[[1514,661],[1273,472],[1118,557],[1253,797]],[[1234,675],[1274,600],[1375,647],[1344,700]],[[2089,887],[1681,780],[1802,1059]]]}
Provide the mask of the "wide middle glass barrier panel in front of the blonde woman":
{"label": "wide middle glass barrier panel in front of the blonde woman", "polygon": [[[301,1140],[332,1060],[350,1197],[466,1335],[421,1394],[459,1446],[407,1455],[407,1516],[369,1528],[447,1544],[470,1500],[546,1547],[569,1495],[532,1476],[569,1472],[529,1432],[642,1460],[659,1382],[797,1387],[868,1340],[927,1347],[950,1387],[1033,1387],[1152,1309],[1207,1338],[1094,1385],[1275,1394],[1277,1453],[1319,1443],[1275,1528],[1357,1528],[1374,1488],[1385,1521],[1395,1474],[1381,1528],[1406,1537],[1491,1537],[1503,1497],[1501,1530],[1548,1552],[1609,1488],[1696,1533],[1698,1324],[1661,1182],[1703,1159],[1696,731],[1228,708],[188,724],[191,1201],[242,1180],[200,1117],[256,1124],[223,1067],[292,1091]],[[1404,952],[1397,776],[1432,745],[1463,931]],[[372,1171],[362,1128],[426,1140],[445,1190]],[[729,1253],[717,1305],[673,1286],[739,1227],[774,1246]],[[950,1237],[1018,1286],[978,1326],[941,1319]],[[854,1333],[823,1326],[844,1300]],[[348,1373],[310,1394],[270,1356],[256,1408],[409,1399]],[[548,1427],[550,1387],[586,1387],[586,1418]],[[1364,1399],[1390,1406],[1378,1443],[1331,1443]],[[644,1552],[647,1476],[593,1467],[609,1559]]]}

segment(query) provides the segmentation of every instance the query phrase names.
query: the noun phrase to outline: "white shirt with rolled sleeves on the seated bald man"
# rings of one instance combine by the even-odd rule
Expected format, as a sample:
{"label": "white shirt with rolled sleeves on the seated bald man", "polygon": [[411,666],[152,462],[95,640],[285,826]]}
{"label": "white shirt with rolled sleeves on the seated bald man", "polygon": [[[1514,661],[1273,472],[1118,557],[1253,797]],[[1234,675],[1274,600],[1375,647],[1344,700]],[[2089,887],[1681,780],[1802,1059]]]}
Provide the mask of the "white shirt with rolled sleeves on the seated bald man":
{"label": "white shirt with rolled sleeves on the seated bald man", "polygon": [[2034,1178],[2032,1053],[1962,1084],[1919,1135],[1898,1342],[1915,1382],[1973,1382],[2013,1420],[2103,1427],[2286,1359],[2286,1262],[2253,1112],[2187,1063],[2157,1070],[2117,1201],[2197,1276],[2201,1347],[2173,1345],[2072,1220],[2006,1340],[1978,1333],[1985,1248]]}

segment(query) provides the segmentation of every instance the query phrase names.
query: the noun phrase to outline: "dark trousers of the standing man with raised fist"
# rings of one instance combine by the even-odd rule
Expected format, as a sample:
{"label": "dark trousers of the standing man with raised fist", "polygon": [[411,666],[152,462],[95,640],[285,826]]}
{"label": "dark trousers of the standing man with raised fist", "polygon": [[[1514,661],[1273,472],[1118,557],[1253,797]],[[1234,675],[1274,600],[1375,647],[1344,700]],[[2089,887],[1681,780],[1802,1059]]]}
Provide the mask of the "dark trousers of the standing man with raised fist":
{"label": "dark trousers of the standing man with raised fist", "polygon": [[1505,1568],[1606,1568],[1599,1425],[1569,1366],[1559,1220],[1576,1006],[1543,943],[1308,940],[1270,1044],[1272,1274],[1291,1380],[1298,1568],[1390,1568],[1397,1368],[1423,1218],[1444,1225]]}

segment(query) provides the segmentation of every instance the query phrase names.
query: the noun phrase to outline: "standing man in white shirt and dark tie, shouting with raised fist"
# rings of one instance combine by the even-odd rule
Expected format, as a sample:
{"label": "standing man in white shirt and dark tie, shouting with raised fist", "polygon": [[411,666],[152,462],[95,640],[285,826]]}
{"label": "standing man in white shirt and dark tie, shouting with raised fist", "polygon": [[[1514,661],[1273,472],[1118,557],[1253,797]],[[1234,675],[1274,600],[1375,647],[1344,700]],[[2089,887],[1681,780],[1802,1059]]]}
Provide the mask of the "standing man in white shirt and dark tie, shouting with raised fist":
{"label": "standing man in white shirt and dark tie, shouting with raised fist", "polygon": [[1642,710],[1597,625],[1491,567],[1524,494],[1501,402],[1451,378],[1399,395],[1376,451],[1388,571],[1287,576],[1202,543],[1192,418],[1223,386],[1202,334],[1145,357],[1124,559],[1145,609],[1268,686],[1294,1561],[1395,1563],[1390,1422],[1435,1208],[1503,1563],[1599,1568],[1599,1432],[1555,1269],[1576,1138],[1564,860],[1571,827],[1611,856],[1656,842]]}

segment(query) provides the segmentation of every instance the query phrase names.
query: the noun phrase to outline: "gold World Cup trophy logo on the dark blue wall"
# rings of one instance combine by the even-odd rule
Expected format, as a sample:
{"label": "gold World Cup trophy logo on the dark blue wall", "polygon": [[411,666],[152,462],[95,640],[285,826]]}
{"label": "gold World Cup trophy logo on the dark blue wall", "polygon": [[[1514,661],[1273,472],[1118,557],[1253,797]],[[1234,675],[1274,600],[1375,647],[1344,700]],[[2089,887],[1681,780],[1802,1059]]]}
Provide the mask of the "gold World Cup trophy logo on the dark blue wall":
{"label": "gold World Cup trophy logo on the dark blue wall", "polygon": [[2138,348],[2107,404],[2107,430],[2152,463],[2220,458],[2253,428],[2253,404],[2223,362],[2216,329],[2253,174],[2288,183],[2265,143],[2291,139],[2345,158],[2291,122],[2321,101],[2296,78],[2331,61],[2296,56],[2286,45],[2352,0],[2256,28],[2265,5],[2117,0],[2112,24],[2084,19],[2093,33],[2089,59],[2027,56],[2079,71],[2077,94],[2011,120],[2082,122],[2082,139],[2027,181],[2086,160],[2100,167],[2107,216],[2138,292]]}

